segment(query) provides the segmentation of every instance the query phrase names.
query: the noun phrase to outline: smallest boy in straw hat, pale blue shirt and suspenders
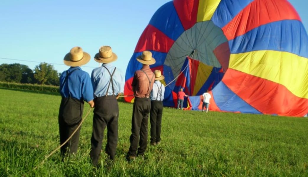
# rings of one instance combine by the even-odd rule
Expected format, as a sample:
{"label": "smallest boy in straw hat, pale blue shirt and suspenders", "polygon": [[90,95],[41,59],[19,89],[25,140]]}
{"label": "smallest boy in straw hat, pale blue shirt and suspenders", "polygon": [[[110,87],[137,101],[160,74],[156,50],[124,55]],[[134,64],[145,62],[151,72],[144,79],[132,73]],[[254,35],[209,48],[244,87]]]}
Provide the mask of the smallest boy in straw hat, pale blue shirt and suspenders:
{"label": "smallest boy in straw hat, pale blue shirt and suspenders", "polygon": [[160,82],[165,77],[161,75],[160,70],[155,70],[155,82],[151,91],[151,111],[150,111],[150,123],[151,123],[151,145],[160,144],[161,133],[161,117],[163,115],[163,99],[165,93],[165,86]]}

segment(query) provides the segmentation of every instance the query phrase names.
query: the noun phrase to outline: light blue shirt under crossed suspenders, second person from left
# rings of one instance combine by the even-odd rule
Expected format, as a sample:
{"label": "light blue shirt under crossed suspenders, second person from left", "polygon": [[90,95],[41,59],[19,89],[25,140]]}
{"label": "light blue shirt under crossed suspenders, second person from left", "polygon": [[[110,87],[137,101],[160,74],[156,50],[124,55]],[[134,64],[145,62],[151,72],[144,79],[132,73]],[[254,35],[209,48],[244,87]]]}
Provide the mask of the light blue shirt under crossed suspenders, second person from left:
{"label": "light blue shirt under crossed suspenders, second person from left", "polygon": [[[109,70],[110,74],[112,74],[113,70],[115,69],[115,67],[112,66],[111,63],[104,63],[103,66],[105,66]],[[105,96],[108,89],[108,85],[110,82],[110,74],[103,66],[95,68],[91,74],[94,97]],[[115,69],[115,73],[112,76],[112,80],[113,80],[114,94],[118,95],[119,93],[123,93],[124,76],[119,68]],[[107,95],[112,95],[112,93],[113,93],[112,84],[110,83]]]}

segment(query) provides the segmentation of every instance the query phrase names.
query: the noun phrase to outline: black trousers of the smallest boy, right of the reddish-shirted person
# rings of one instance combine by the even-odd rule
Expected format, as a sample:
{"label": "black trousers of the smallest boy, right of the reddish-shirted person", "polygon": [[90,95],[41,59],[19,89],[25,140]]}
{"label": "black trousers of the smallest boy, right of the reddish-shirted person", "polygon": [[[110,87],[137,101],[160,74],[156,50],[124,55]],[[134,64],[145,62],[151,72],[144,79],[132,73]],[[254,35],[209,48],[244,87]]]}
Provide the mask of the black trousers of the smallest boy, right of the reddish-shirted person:
{"label": "black trousers of the smallest boy, right of the reddish-shirted person", "polygon": [[151,143],[160,141],[161,117],[163,116],[163,102],[151,101],[150,123],[151,123]]}

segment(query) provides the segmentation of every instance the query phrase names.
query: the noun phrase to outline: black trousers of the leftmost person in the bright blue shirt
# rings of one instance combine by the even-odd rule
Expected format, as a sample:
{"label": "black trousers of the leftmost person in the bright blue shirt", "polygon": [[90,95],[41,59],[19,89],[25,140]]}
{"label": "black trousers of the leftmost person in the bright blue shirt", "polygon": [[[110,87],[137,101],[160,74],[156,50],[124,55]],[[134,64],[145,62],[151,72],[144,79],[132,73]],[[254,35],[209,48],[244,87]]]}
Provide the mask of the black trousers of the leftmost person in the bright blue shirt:
{"label": "black trousers of the leftmost person in the bright blue shirt", "polygon": [[[83,115],[83,102],[73,98],[62,98],[59,108],[59,134],[60,144],[63,144],[76,130]],[[61,155],[64,156],[69,149],[69,153],[77,153],[79,135],[81,127],[72,138],[61,147]]]}

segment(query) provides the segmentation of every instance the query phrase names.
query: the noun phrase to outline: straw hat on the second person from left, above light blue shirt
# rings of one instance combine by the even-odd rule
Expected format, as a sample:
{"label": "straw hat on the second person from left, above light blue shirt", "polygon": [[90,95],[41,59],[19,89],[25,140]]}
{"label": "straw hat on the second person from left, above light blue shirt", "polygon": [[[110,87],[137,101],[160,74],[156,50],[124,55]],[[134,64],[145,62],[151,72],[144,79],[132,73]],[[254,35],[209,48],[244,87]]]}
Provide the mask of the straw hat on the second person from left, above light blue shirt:
{"label": "straw hat on the second person from left, above light blue shirt", "polygon": [[112,52],[110,46],[101,46],[94,56],[94,60],[99,63],[110,63],[118,59],[118,56]]}

